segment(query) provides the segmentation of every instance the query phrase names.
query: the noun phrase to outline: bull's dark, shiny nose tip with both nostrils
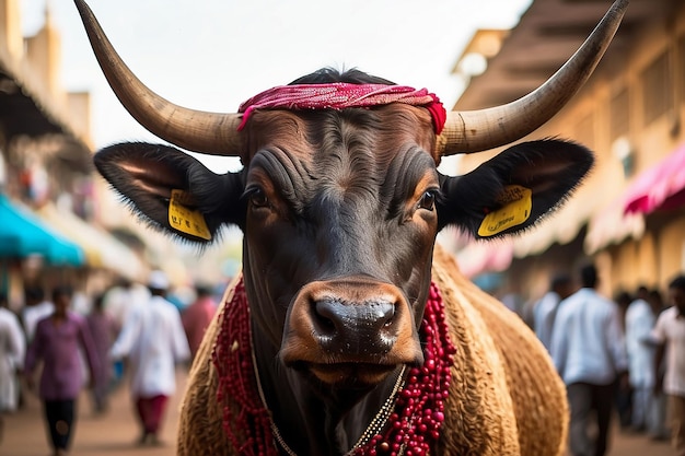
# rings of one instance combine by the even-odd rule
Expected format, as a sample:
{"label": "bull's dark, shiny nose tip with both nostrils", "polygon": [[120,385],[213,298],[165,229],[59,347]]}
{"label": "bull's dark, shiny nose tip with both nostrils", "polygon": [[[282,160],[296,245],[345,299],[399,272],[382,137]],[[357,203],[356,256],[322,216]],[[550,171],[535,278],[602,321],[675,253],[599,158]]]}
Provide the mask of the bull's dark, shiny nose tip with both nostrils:
{"label": "bull's dark, shiny nose tip with both nostrils", "polygon": [[394,302],[324,299],[313,304],[313,336],[332,353],[385,354],[397,340]]}

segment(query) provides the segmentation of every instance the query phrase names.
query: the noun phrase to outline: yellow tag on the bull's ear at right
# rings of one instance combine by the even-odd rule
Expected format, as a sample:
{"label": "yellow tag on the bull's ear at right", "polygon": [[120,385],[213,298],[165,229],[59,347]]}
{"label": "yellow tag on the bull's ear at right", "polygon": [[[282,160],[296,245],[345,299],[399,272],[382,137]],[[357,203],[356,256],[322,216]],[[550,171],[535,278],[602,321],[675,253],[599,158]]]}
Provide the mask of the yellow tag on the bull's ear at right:
{"label": "yellow tag on the bull's ear at right", "polygon": [[503,207],[485,217],[478,229],[478,235],[494,236],[529,220],[533,207],[532,195],[533,191],[530,188],[519,185],[506,186],[497,200]]}

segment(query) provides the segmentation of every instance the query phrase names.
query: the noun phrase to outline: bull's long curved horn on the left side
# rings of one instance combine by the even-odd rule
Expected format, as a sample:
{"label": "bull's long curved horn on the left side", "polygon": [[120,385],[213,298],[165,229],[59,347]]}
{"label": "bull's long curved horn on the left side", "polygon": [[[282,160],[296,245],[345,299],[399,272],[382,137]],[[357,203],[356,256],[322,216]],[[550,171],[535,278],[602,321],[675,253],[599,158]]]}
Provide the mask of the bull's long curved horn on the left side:
{"label": "bull's long curved horn on the left side", "polygon": [[126,110],[158,137],[211,155],[237,155],[240,114],[218,114],[175,105],[148,89],[124,63],[83,0],[74,0],[107,82]]}

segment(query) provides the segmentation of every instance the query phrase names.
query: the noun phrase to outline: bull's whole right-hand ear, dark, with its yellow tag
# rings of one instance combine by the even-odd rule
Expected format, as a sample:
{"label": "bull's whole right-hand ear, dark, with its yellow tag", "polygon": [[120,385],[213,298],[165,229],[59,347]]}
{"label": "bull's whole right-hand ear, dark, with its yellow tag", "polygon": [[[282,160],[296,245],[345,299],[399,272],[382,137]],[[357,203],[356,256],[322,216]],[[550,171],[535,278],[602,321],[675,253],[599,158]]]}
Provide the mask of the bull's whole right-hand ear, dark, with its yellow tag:
{"label": "bull's whole right-hand ear, dark, with its yellow tag", "polygon": [[582,145],[546,139],[513,145],[466,175],[441,176],[439,226],[476,238],[521,232],[558,208],[593,161]]}

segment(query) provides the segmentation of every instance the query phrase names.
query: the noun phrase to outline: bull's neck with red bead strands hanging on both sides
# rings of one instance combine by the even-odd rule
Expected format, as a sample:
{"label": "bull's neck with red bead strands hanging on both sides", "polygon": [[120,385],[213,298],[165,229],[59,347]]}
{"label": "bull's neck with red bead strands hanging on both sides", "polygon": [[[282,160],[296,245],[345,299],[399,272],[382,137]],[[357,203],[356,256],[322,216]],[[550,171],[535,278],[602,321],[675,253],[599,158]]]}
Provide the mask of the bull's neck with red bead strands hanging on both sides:
{"label": "bull's neck with red bead strands hanging on both sides", "polygon": [[[426,363],[409,369],[406,376],[397,369],[370,390],[326,389],[306,374],[286,369],[278,361],[279,348],[251,318],[245,287],[239,282],[223,307],[212,352],[224,430],[236,449],[252,445],[245,454],[338,456],[352,449],[362,434],[369,442],[362,440],[356,446],[359,454],[379,449],[379,454],[404,449],[426,454],[434,447],[444,421],[455,353],[434,285],[420,331]],[[405,383],[396,382],[398,377],[406,377]],[[393,396],[400,388],[402,393]],[[383,410],[393,410],[390,421]],[[376,424],[365,433],[370,421]]]}

